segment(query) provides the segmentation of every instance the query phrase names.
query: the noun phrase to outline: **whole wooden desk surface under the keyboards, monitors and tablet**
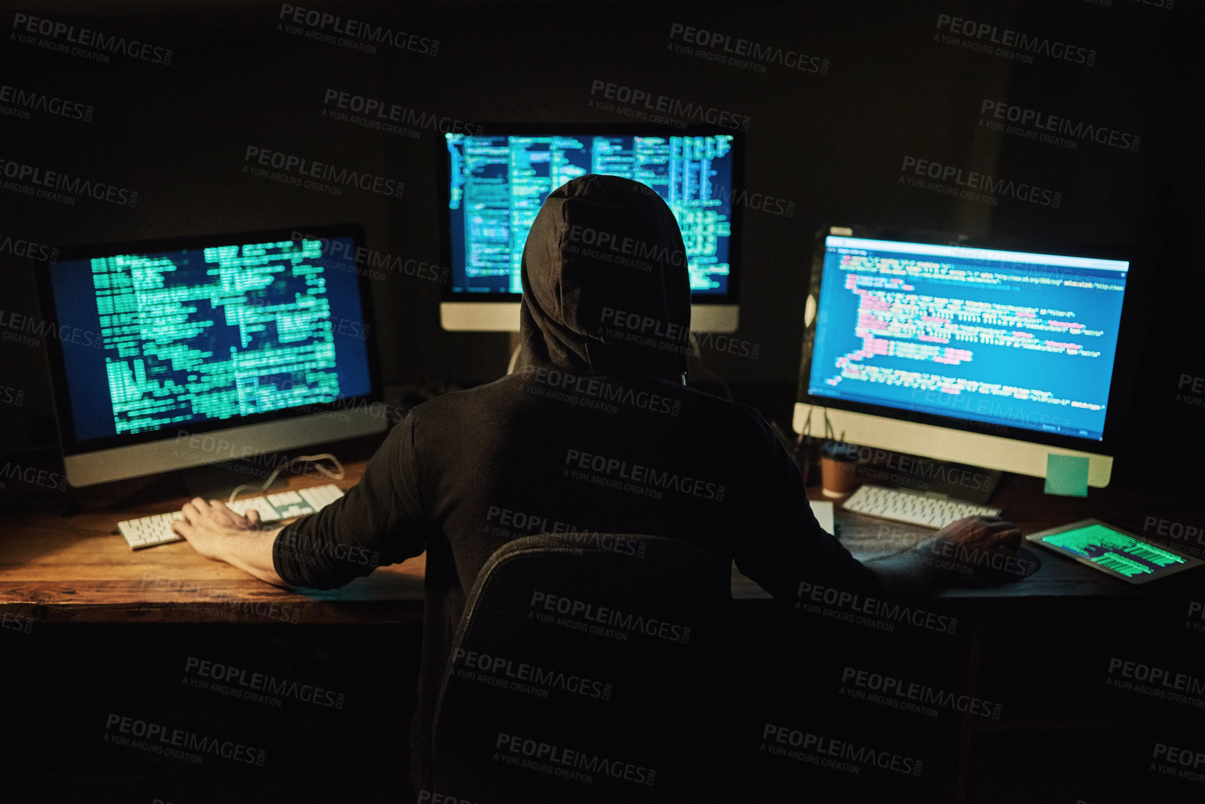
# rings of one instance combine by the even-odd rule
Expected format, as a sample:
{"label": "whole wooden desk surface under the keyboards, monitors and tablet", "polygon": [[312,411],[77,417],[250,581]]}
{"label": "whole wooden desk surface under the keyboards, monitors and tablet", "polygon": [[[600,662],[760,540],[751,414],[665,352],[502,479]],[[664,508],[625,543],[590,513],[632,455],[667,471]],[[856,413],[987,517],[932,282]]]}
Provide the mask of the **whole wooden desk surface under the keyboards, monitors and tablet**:
{"label": "whole wooden desk surface under the keyboards, monitors and tablet", "polygon": [[[346,465],[341,488],[358,482],[366,460]],[[288,488],[325,482],[293,476]],[[819,489],[816,499],[824,499]],[[105,498],[93,498],[104,509]],[[346,587],[304,594],[287,592],[247,576],[222,562],[201,558],[184,542],[131,552],[116,533],[120,520],[178,509],[187,497],[89,510],[70,517],[31,513],[0,521],[0,611],[37,622],[241,622],[241,623],[416,623],[422,616],[425,554],[404,564],[378,568]],[[1042,481],[1010,476],[995,505],[1023,533],[1095,516],[1141,533],[1147,507],[1124,489],[1091,489],[1087,498],[1050,497]],[[88,507],[87,498],[84,503]],[[1164,509],[1160,509],[1164,510]],[[874,558],[929,538],[933,532],[837,509],[842,542],[860,559]],[[1030,577],[986,588],[950,587],[941,598],[1117,598],[1182,595],[1200,588],[1205,570],[1133,587],[1101,573],[1029,546],[1041,562]],[[733,570],[733,597],[769,595]]]}

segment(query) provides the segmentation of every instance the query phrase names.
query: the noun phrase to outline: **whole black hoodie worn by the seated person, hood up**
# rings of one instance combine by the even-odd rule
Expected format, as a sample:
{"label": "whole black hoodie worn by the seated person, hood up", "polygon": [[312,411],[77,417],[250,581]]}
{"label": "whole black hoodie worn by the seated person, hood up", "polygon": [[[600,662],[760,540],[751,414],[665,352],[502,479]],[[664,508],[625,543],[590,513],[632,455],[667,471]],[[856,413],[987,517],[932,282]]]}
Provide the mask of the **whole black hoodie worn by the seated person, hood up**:
{"label": "whole black hoodie worn by the seated person, hood up", "polygon": [[277,574],[333,588],[427,551],[416,784],[440,681],[489,556],[533,533],[684,539],[776,598],[800,581],[877,595],[824,533],[794,462],[756,410],[682,385],[690,288],[674,213],[636,182],[551,193],[523,250],[523,370],[415,407],[363,480],[276,540]]}

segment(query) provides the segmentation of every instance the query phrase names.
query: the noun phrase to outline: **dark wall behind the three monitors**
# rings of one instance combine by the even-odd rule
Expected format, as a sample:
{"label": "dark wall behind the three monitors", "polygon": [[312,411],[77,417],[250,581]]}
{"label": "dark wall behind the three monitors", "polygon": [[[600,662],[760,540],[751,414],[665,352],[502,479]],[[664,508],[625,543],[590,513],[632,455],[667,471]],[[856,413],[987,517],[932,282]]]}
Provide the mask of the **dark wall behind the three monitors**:
{"label": "dark wall behind the three monitors", "polygon": [[[730,381],[795,378],[801,301],[815,233],[824,224],[1105,247],[1134,263],[1119,366],[1124,404],[1134,421],[1189,433],[1175,450],[1203,445],[1193,434],[1205,429],[1205,409],[1177,398],[1177,386],[1191,391],[1205,376],[1193,312],[1203,282],[1189,251],[1201,175],[1188,122],[1200,87],[1200,74],[1189,71],[1200,14],[1189,4],[357,2],[323,10],[439,40],[437,52],[421,52],[434,48],[417,40],[412,49],[378,46],[376,54],[306,40],[278,29],[274,2],[60,2],[25,12],[172,54],[170,64],[153,53],[99,64],[5,37],[4,83],[94,111],[90,122],[37,111],[28,121],[0,116],[0,155],[135,189],[139,198],[133,209],[92,198],[66,205],[4,189],[0,237],[61,246],[357,221],[375,250],[439,262],[440,133],[411,139],[334,122],[322,116],[325,93],[471,123],[628,121],[592,106],[594,82],[612,82],[747,116],[745,189],[794,205],[789,217],[780,213],[783,205],[745,210],[739,338],[759,345],[758,357],[705,350],[709,370]],[[1094,52],[1093,64],[1045,54],[1023,64],[972,52],[941,41],[950,35],[937,27],[941,14],[1082,47],[1077,53]],[[770,61],[763,72],[681,54],[672,48],[682,42],[671,37],[675,24],[803,52],[809,66]],[[1080,139],[1069,148],[992,131],[981,125],[986,100],[1140,136],[1140,145]],[[335,198],[253,177],[243,172],[248,146],[386,175],[405,181],[406,190],[396,200],[353,188]],[[901,183],[906,157],[1039,186],[1060,200],[1057,209],[1015,198],[993,206],[909,187]],[[0,271],[5,315],[36,318],[33,262],[5,247]],[[388,272],[374,292],[387,382],[416,375],[480,382],[502,372],[506,335],[439,328],[437,283]],[[0,350],[0,385],[23,392],[0,419],[4,442],[45,441],[43,347],[4,340]]]}

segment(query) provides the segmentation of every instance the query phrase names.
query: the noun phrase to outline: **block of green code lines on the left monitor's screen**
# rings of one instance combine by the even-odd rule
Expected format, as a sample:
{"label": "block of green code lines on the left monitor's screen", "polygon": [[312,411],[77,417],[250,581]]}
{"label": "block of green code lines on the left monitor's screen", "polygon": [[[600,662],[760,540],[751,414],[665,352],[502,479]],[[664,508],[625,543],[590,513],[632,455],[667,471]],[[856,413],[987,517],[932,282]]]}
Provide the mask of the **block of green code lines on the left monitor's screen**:
{"label": "block of green code lines on the left monitor's screen", "polygon": [[319,241],[92,259],[117,433],[340,395]]}

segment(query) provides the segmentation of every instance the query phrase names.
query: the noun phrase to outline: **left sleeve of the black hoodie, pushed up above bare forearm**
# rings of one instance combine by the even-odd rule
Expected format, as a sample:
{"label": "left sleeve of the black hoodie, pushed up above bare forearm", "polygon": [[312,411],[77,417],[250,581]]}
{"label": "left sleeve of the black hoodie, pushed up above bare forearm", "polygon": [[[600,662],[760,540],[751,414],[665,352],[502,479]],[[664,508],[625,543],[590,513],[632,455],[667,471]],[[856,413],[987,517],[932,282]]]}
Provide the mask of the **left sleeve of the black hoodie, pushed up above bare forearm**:
{"label": "left sleeve of the black hoodie, pushed up above bare forearm", "polygon": [[331,589],[419,554],[425,534],[411,413],[386,438],[359,483],[277,534],[272,564],[290,586]]}

